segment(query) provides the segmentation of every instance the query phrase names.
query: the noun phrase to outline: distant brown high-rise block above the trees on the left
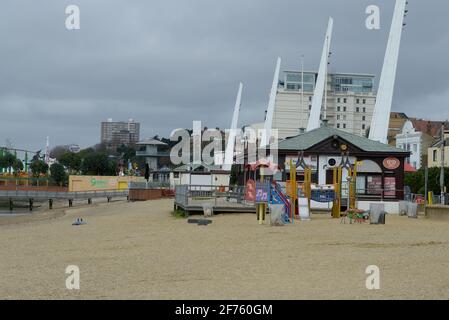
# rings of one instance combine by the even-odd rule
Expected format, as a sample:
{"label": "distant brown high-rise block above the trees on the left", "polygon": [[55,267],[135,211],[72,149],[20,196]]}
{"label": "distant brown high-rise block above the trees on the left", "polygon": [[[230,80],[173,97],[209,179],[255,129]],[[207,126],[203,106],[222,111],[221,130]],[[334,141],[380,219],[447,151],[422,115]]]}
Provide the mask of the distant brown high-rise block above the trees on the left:
{"label": "distant brown high-rise block above the trees on the left", "polygon": [[108,119],[101,123],[101,143],[108,149],[116,149],[121,145],[136,144],[140,139],[140,123],[130,119],[128,122],[113,122]]}

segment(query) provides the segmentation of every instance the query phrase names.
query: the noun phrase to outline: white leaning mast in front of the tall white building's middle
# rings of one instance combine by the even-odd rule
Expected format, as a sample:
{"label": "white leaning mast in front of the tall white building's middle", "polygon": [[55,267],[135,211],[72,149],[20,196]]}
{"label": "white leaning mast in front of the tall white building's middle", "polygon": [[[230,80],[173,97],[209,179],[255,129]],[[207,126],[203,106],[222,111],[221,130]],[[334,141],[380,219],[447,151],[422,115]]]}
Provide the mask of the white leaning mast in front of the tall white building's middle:
{"label": "white leaning mast in front of the tall white building's middle", "polygon": [[334,27],[334,19],[329,18],[327,25],[326,38],[324,39],[323,53],[321,55],[320,69],[318,71],[318,78],[315,85],[315,91],[312,99],[312,110],[310,111],[310,118],[307,125],[307,131],[317,129],[321,126],[321,109],[323,105],[323,94],[327,82],[327,63],[329,58],[329,50],[332,41],[332,30]]}

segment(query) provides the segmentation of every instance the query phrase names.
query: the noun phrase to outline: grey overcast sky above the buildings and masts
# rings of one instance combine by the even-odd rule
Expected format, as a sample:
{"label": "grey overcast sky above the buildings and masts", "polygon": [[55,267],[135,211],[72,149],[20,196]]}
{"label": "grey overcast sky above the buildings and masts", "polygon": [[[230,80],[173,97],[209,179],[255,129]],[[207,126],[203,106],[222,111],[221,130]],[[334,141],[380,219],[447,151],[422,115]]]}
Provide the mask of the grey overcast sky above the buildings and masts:
{"label": "grey overcast sky above the buildings and masts", "polygon": [[[65,28],[65,8],[81,29]],[[378,5],[381,29],[367,30]],[[141,122],[141,137],[202,120],[227,128],[239,81],[240,125],[260,122],[276,57],[318,69],[334,17],[332,72],[380,77],[390,0],[4,0],[0,9],[0,145],[37,150],[100,140],[107,118]],[[409,0],[394,111],[449,119],[449,2]]]}

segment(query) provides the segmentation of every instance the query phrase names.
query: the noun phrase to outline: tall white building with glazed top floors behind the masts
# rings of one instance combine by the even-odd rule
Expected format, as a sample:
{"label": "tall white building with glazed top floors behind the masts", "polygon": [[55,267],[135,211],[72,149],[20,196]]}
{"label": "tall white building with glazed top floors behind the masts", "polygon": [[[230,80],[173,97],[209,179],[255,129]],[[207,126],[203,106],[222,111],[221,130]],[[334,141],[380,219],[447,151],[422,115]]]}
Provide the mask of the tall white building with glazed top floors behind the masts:
{"label": "tall white building with glazed top floors behind the masts", "polygon": [[[317,75],[317,72],[304,72],[304,76],[301,71],[284,72],[273,119],[273,128],[278,129],[280,139],[296,136],[307,128]],[[373,88],[373,75],[329,73],[321,119],[328,126],[366,136],[376,103]]]}

